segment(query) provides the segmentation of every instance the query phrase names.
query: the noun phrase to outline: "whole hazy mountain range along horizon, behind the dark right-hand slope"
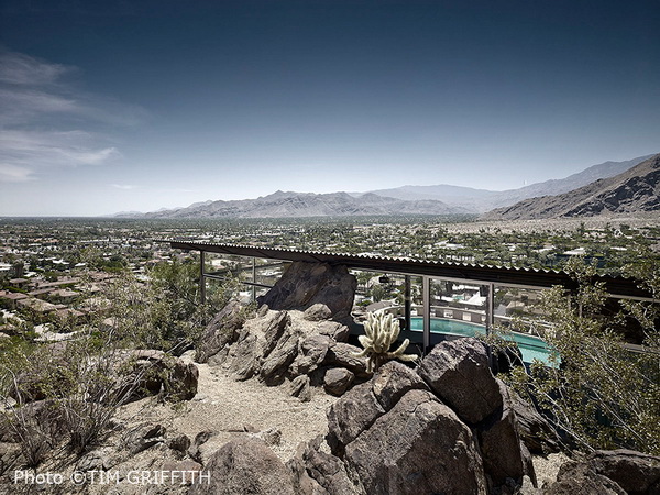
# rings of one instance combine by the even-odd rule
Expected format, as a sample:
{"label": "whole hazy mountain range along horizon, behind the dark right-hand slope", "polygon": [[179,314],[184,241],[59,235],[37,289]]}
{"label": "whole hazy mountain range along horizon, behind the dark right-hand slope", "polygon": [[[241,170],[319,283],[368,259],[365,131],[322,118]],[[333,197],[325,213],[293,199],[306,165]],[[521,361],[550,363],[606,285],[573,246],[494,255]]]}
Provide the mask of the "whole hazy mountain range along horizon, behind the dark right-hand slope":
{"label": "whole hazy mountain range along horizon, behind the dark right-hand slope", "polygon": [[[640,156],[625,162],[605,162],[593,165],[578,174],[563,179],[546,180],[518,189],[493,191],[487,189],[475,189],[470,187],[436,185],[436,186],[403,186],[393,189],[380,189],[369,193],[292,193],[278,190],[272,195],[256,199],[242,200],[208,200],[190,205],[186,208],[160,209],[148,213],[125,212],[116,217],[130,218],[294,218],[294,217],[344,217],[344,216],[387,216],[387,215],[461,215],[461,213],[487,213],[484,218],[524,218],[526,209],[556,211],[549,206],[532,207],[536,200],[530,198],[543,197],[549,205],[549,196],[558,197],[581,187],[591,187],[594,182],[607,182],[629,170],[637,169],[638,165],[646,163],[653,155]],[[640,173],[644,172],[639,169]],[[629,177],[630,179],[631,177]],[[618,179],[617,179],[618,180]],[[652,182],[648,177],[645,182]],[[618,183],[617,183],[618,184]],[[631,183],[630,183],[631,184]],[[641,184],[641,183],[640,183]],[[656,180],[657,186],[657,180]],[[600,187],[600,186],[597,186]],[[648,189],[648,187],[647,187]],[[647,190],[645,189],[645,190]],[[595,191],[595,189],[594,189]],[[563,201],[574,201],[573,194]],[[586,200],[586,199],[585,199]],[[516,208],[520,201],[519,208]],[[551,202],[551,201],[550,201]],[[558,200],[557,205],[562,200]],[[554,204],[553,204],[554,205]],[[565,205],[564,205],[565,206]],[[628,208],[632,208],[629,204]],[[507,209],[508,208],[508,209]],[[559,207],[558,207],[559,208]],[[623,206],[622,206],[623,208]],[[557,209],[566,213],[565,208]],[[594,207],[593,211],[596,211]],[[586,206],[582,208],[583,215],[588,213]],[[578,215],[578,213],[575,213]]]}

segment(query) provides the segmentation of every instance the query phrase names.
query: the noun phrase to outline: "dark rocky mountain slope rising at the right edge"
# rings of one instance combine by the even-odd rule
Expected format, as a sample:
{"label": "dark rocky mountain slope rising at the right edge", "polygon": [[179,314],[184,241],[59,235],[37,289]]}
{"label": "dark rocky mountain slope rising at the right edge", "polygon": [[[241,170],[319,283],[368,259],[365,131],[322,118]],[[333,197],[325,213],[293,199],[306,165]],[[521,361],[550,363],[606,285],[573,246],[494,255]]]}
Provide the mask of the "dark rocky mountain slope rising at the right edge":
{"label": "dark rocky mountain slope rising at the right edge", "polygon": [[592,217],[660,210],[660,154],[614,177],[557,196],[526,199],[486,213],[486,220]]}

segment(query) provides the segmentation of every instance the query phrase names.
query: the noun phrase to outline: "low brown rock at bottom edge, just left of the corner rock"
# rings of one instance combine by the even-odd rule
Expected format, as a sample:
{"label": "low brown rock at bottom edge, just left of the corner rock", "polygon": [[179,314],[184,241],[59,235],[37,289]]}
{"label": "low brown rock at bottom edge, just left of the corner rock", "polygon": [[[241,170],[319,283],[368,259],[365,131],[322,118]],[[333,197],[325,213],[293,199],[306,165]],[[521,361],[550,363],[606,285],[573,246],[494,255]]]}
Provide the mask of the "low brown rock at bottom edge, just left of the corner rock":
{"label": "low brown rock at bottom edge, just left of the corner rock", "polygon": [[543,490],[544,495],[626,495],[624,488],[581,462],[561,465],[557,481]]}

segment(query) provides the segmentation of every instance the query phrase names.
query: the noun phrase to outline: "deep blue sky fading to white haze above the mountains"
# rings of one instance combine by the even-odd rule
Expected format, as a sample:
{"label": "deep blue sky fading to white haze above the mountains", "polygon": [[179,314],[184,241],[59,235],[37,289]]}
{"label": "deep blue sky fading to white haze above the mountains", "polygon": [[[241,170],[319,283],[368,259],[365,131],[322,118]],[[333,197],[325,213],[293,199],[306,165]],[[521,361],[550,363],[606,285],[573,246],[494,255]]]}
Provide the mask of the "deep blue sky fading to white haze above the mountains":
{"label": "deep blue sky fading to white haze above the mountains", "polygon": [[657,0],[0,0],[0,216],[506,189],[657,152]]}

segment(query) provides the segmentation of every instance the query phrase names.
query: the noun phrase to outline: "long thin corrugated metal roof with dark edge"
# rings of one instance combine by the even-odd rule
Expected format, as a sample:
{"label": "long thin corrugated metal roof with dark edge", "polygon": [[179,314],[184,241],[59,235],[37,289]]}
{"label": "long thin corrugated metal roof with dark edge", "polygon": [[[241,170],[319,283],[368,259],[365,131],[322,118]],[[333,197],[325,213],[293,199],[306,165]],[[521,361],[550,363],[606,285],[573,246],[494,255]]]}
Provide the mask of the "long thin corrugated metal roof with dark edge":
{"label": "long thin corrugated metal roof with dark edge", "polygon": [[[169,242],[173,249],[180,250],[205,251],[208,253],[233,254],[283,261],[342,264],[351,268],[372,270],[384,273],[429,275],[503,285],[525,285],[539,288],[551,287],[554,285],[562,285],[566,288],[576,288],[576,283],[571,275],[558,270],[494,266],[367,254],[331,253],[324,251],[226,244],[206,241],[169,240],[164,242]],[[631,278],[597,275],[594,277],[593,282],[604,283],[606,290],[613,295],[634,298],[652,297],[648,290],[639,287],[637,280]]]}

